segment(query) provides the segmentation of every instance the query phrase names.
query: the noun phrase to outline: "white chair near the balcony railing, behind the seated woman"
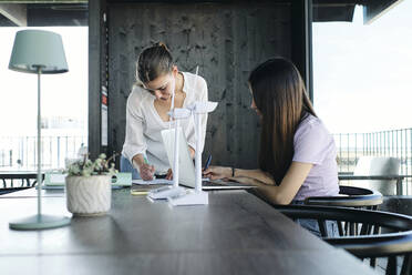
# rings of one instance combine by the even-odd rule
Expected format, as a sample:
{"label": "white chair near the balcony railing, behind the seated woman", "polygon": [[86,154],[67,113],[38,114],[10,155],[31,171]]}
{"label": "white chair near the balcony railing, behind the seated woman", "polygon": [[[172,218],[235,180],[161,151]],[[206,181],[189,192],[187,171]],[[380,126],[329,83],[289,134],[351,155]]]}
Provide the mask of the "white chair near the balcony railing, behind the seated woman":
{"label": "white chair near the balcony railing, behind the seated woman", "polygon": [[[390,156],[361,156],[353,175],[399,175],[401,161]],[[395,181],[362,180],[351,181],[354,186],[379,191],[383,195],[395,195]]]}

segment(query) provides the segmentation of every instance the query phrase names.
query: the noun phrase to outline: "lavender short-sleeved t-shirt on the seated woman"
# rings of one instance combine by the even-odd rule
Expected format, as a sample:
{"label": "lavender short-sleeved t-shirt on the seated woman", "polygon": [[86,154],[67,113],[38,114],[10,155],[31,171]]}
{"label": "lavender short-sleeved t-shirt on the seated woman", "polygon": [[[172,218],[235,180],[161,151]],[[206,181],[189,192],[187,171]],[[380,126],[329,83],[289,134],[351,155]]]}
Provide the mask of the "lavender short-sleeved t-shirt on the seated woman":
{"label": "lavender short-sleeved t-shirt on the seated woman", "polygon": [[309,114],[299,124],[293,149],[293,162],[313,164],[293,200],[338,195],[337,149],[332,135],[318,118]]}

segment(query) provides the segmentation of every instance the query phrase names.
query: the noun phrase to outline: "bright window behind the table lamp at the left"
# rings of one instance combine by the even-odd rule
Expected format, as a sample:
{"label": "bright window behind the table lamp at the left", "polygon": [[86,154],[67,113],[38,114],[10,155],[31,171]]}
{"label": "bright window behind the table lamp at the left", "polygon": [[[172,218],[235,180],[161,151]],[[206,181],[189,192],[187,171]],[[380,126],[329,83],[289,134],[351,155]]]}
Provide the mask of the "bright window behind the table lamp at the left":
{"label": "bright window behind the table lamp at the left", "polygon": [[86,4],[27,4],[25,14],[28,26],[40,27],[10,27],[0,20],[0,170],[37,169],[37,74],[8,69],[16,32],[22,29],[62,35],[69,72],[41,77],[42,166],[60,169],[87,145]]}

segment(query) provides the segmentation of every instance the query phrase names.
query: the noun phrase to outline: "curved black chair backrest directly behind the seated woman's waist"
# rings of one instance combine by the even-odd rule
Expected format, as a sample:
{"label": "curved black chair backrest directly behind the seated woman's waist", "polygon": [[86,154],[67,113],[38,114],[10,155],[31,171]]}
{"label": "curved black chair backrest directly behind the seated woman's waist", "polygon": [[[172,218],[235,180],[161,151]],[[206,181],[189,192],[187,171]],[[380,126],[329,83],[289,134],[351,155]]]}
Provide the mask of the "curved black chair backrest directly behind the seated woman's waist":
{"label": "curved black chair backrest directly behind the seated woman's waist", "polygon": [[381,193],[368,189],[340,185],[339,194],[339,196],[307,197],[305,204],[377,210],[378,205],[383,202]]}

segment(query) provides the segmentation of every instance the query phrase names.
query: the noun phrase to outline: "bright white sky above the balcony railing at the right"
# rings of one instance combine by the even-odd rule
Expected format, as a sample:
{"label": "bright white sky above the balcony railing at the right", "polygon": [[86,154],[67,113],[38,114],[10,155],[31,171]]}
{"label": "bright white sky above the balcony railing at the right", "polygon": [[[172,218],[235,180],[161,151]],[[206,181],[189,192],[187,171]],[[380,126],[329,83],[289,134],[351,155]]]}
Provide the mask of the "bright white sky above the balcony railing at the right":
{"label": "bright white sky above the balcony railing at the right", "polygon": [[372,132],[412,125],[412,1],[363,24],[315,22],[313,101],[333,133]]}

